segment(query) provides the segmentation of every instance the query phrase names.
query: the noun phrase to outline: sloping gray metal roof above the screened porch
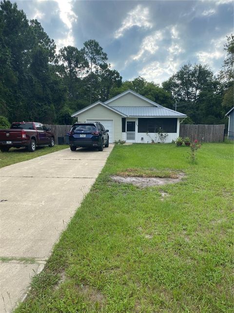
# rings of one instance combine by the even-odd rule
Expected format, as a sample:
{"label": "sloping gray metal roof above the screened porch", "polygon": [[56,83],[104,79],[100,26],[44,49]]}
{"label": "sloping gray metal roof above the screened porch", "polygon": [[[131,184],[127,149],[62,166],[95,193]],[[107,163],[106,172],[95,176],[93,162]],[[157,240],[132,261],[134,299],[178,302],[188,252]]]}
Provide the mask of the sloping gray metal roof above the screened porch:
{"label": "sloping gray metal roof above the screened porch", "polygon": [[127,116],[144,116],[144,117],[186,117],[186,114],[176,112],[174,110],[156,107],[112,107]]}

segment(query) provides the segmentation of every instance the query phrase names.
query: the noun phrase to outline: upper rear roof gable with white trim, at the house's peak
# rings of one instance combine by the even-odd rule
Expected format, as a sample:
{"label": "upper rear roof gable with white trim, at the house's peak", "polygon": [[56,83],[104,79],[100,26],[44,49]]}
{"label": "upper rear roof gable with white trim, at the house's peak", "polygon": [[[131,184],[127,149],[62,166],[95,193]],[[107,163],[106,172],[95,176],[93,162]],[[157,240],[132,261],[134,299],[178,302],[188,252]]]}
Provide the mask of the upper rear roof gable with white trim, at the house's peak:
{"label": "upper rear roof gable with white trim, at the house's peak", "polygon": [[110,107],[161,107],[158,103],[130,89],[105,101],[105,104]]}

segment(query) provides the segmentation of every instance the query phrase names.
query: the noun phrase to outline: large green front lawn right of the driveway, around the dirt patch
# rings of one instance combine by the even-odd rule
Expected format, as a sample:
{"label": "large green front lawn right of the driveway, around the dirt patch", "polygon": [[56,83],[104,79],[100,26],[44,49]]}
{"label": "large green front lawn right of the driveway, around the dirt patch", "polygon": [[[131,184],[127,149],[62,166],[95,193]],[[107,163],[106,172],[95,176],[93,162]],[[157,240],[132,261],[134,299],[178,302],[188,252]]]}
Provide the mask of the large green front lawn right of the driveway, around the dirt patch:
{"label": "large green front lawn right of the driveway, around the dirt patch", "polygon": [[[233,146],[116,146],[16,313],[233,312]],[[112,182],[128,168],[177,184]],[[159,190],[168,193],[162,201]]]}

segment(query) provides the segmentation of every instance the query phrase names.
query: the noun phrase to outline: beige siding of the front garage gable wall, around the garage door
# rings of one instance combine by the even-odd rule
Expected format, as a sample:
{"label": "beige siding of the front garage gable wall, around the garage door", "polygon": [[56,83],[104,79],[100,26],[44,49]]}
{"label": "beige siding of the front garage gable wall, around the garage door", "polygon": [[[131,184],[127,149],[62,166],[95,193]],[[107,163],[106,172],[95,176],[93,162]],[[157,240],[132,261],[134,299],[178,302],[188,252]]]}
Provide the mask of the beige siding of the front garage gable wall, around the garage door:
{"label": "beige siding of the front garage gable wall, around the garage door", "polygon": [[98,104],[97,106],[87,110],[78,115],[78,122],[84,123],[86,119],[92,120],[113,120],[113,139],[118,140],[122,138],[122,116],[113,112],[109,109],[106,109],[102,105]]}

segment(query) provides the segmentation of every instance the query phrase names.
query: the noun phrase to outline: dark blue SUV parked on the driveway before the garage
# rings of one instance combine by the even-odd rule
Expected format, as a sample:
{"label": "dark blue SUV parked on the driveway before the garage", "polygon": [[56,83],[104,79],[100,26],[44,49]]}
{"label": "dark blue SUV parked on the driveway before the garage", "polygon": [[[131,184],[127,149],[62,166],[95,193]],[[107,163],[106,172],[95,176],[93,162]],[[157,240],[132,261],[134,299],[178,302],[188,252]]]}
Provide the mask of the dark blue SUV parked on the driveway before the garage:
{"label": "dark blue SUV parked on the driveway before the garage", "polygon": [[109,147],[109,130],[99,123],[75,123],[69,133],[69,145],[72,151],[79,147],[97,147],[103,151],[103,147]]}

